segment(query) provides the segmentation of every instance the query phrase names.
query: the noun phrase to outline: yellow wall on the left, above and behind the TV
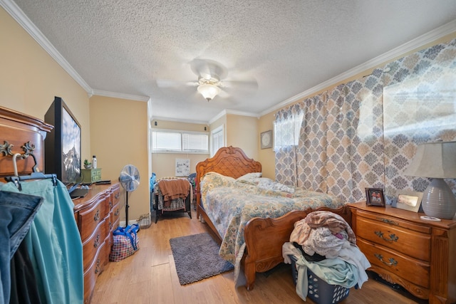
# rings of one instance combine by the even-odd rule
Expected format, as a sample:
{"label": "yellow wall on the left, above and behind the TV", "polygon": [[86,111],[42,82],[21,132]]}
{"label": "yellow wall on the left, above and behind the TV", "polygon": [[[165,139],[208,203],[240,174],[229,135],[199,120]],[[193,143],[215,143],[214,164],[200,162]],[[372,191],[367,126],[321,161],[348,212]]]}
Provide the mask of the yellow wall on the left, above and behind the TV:
{"label": "yellow wall on the left, above and behind the TV", "polygon": [[63,98],[81,124],[82,154],[89,154],[86,91],[1,7],[0,45],[0,105],[44,120],[54,96]]}

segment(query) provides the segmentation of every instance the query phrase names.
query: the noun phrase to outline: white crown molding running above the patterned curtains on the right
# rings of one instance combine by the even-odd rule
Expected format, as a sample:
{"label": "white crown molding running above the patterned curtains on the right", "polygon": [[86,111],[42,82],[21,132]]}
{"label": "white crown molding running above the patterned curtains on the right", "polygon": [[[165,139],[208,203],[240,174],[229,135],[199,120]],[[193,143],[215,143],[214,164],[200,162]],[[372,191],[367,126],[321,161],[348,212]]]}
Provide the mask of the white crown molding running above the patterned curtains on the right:
{"label": "white crown molding running above the patterned curtains on the right", "polygon": [[411,41],[408,41],[407,43],[404,43],[403,45],[398,46],[397,48],[393,48],[393,50],[391,50],[391,51],[383,53],[382,55],[377,56],[369,61],[366,61],[365,63],[362,63],[361,65],[358,65],[355,68],[347,70],[346,72],[341,73],[341,74],[337,75],[336,77],[328,79],[328,80],[324,81],[323,83],[320,83],[320,84],[314,86],[313,88],[310,88],[309,90],[305,90],[304,92],[299,93],[298,95],[294,95],[293,97],[291,97],[287,100],[284,100],[283,102],[281,102],[277,105],[274,105],[274,107],[271,107],[269,109],[264,110],[263,112],[260,112],[259,116],[261,117],[261,116],[269,114],[270,112],[273,112],[275,110],[279,110],[280,108],[283,108],[286,105],[295,103],[296,101],[298,101],[302,98],[306,98],[307,96],[313,95],[314,93],[317,93],[321,90],[324,90],[324,89],[330,87],[331,85],[335,85],[336,83],[340,83],[343,80],[346,80],[355,75],[363,73],[366,70],[375,68],[376,66],[381,65],[382,63],[388,63],[388,61],[392,61],[394,58],[403,56],[403,54],[405,54],[405,53],[408,53],[417,48],[423,47],[427,43],[432,43],[433,41],[436,41],[437,39],[442,38],[444,36],[447,36],[450,33],[454,33],[455,31],[456,31],[456,20],[450,21],[449,23],[446,23],[443,26],[440,26],[430,32],[427,32],[421,36],[418,36],[417,38],[415,38]]}

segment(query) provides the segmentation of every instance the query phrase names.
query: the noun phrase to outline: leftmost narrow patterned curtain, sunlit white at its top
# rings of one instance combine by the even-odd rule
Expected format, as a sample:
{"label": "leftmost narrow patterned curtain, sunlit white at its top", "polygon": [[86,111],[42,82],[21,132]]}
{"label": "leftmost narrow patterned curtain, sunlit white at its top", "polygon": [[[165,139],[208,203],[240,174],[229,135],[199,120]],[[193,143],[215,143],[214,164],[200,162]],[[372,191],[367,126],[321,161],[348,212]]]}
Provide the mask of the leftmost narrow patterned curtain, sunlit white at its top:
{"label": "leftmost narrow patterned curtain, sunlit white at its top", "polygon": [[276,181],[297,185],[296,149],[303,119],[300,104],[291,105],[276,113],[274,120],[274,152],[276,152]]}

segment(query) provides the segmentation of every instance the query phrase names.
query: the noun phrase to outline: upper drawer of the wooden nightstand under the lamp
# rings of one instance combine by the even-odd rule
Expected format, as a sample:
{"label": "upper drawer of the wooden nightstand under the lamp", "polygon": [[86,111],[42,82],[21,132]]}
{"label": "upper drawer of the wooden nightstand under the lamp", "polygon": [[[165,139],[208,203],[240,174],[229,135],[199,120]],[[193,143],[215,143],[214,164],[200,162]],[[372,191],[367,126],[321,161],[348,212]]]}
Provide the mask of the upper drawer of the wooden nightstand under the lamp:
{"label": "upper drawer of the wooden nightstand under the lamp", "polygon": [[416,229],[403,228],[403,226],[358,216],[356,235],[358,238],[378,243],[398,253],[430,261],[430,234],[417,232]]}

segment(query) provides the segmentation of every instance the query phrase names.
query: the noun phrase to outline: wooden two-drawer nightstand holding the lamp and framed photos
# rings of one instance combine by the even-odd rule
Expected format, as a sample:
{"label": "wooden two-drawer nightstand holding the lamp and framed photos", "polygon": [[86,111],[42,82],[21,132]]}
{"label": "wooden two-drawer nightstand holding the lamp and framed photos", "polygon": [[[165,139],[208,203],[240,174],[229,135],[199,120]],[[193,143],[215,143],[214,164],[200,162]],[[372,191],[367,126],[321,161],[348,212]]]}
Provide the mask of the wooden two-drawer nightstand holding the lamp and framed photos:
{"label": "wooden two-drawer nightstand holding the lamp and framed photos", "polygon": [[455,303],[456,221],[425,221],[424,214],[365,202],[349,206],[370,270],[429,303]]}

